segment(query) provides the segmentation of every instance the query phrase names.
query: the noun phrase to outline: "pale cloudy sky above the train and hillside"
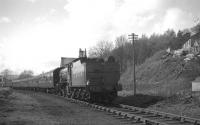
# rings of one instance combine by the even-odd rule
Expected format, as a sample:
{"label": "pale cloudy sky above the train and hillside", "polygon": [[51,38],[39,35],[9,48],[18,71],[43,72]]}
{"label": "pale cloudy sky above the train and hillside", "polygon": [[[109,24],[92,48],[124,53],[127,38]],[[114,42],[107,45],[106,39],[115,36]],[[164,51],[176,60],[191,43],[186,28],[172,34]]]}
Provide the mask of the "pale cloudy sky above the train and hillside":
{"label": "pale cloudy sky above the train and hillside", "polygon": [[195,25],[199,0],[0,0],[0,70],[36,74],[79,48]]}

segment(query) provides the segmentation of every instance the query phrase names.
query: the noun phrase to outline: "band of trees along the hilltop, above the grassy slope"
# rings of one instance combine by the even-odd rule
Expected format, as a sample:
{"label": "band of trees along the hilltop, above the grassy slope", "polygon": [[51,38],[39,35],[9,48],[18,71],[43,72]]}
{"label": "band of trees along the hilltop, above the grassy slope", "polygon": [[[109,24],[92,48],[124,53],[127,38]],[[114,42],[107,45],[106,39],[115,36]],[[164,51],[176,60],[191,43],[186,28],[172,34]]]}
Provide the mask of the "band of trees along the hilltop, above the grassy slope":
{"label": "band of trees along the hilltop, above the grassy slope", "polygon": [[[142,35],[135,41],[135,62],[142,64],[154,53],[167,49],[172,50],[182,48],[183,44],[190,38],[190,33],[168,29],[163,34],[152,34],[149,37]],[[115,41],[99,41],[89,49],[89,57],[107,58],[114,56],[120,63],[120,69],[124,72],[133,62],[133,45],[127,36],[121,35]]]}

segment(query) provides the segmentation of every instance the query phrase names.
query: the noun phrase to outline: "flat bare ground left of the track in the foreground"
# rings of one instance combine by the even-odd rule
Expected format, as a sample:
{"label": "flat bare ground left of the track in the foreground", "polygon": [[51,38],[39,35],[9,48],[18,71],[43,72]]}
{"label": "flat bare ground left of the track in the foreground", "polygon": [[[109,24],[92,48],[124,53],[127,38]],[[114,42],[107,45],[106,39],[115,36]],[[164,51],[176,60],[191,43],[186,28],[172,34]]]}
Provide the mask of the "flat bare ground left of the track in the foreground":
{"label": "flat bare ground left of the track in the foreground", "polygon": [[44,93],[14,91],[0,103],[0,125],[121,125],[123,121]]}

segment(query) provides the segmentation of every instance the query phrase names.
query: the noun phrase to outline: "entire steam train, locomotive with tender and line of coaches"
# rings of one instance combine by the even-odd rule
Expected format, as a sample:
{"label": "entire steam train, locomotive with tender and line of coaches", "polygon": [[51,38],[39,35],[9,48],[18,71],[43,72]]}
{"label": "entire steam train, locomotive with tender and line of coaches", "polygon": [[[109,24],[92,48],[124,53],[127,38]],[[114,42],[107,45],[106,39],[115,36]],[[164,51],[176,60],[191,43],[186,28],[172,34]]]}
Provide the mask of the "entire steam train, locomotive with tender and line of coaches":
{"label": "entire steam train, locomotive with tender and line of coaches", "polygon": [[112,56],[104,60],[83,55],[79,52],[79,58],[62,67],[32,78],[14,80],[8,86],[87,101],[111,102],[121,90],[119,64]]}

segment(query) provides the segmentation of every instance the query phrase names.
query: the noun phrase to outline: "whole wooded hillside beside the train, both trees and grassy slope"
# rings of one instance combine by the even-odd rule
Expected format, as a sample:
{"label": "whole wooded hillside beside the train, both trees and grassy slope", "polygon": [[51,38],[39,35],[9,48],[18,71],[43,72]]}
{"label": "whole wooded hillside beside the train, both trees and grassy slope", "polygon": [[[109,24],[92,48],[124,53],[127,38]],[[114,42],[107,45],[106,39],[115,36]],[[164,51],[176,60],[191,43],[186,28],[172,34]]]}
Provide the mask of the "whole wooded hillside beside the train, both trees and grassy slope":
{"label": "whole wooded hillside beside the train, both trees and grassy slope", "polygon": [[[200,24],[191,28],[200,32]],[[163,34],[142,35],[135,41],[137,91],[143,94],[170,96],[191,90],[191,81],[200,75],[199,57],[185,62],[185,57],[166,56],[166,49],[182,48],[190,39],[190,30],[167,30]],[[89,50],[89,56],[106,58],[113,55],[120,63],[124,90],[133,90],[133,46],[125,36],[117,37],[115,45],[101,41]],[[112,43],[112,42],[110,42]],[[188,91],[191,92],[191,91]]]}

